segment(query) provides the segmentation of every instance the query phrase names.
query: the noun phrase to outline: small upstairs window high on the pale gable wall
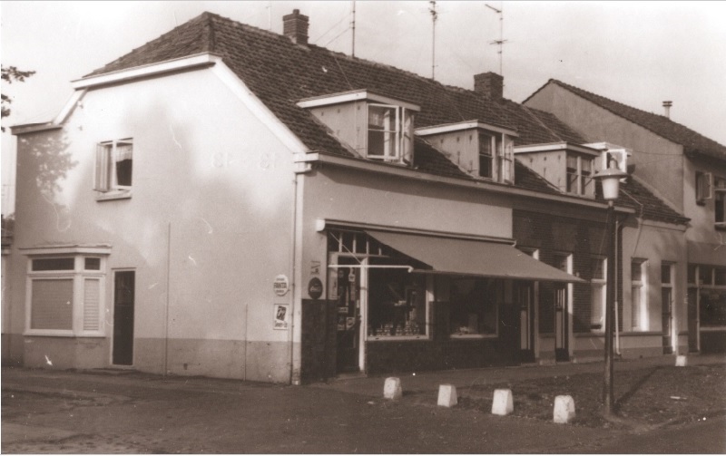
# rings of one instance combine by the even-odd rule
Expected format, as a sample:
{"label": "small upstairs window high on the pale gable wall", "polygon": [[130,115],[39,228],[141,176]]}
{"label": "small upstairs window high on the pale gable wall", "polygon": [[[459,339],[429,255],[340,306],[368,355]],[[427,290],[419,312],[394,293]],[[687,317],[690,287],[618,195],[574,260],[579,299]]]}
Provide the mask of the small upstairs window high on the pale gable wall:
{"label": "small upstairs window high on the pale gable wall", "polygon": [[108,141],[96,148],[94,189],[102,193],[132,188],[133,141]]}

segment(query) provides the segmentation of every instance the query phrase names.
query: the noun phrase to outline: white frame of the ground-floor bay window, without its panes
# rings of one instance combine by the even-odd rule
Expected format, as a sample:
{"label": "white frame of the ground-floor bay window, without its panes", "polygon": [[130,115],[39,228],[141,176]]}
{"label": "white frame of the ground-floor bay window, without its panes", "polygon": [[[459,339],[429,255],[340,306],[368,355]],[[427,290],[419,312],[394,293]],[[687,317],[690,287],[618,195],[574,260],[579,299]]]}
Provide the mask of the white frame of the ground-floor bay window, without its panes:
{"label": "white frame of the ground-floor bay window, without its panes", "polygon": [[[73,269],[34,270],[34,260],[54,258],[74,258]],[[99,269],[86,269],[85,258],[98,258]],[[61,336],[61,337],[104,337],[105,336],[105,277],[106,258],[97,253],[58,253],[30,255],[25,276],[25,331],[24,335]],[[33,327],[33,291],[36,281],[71,280],[73,282],[73,303],[71,327],[68,329],[44,329]],[[98,324],[95,329],[84,329],[85,284],[86,280],[98,281],[98,303],[95,314]]]}

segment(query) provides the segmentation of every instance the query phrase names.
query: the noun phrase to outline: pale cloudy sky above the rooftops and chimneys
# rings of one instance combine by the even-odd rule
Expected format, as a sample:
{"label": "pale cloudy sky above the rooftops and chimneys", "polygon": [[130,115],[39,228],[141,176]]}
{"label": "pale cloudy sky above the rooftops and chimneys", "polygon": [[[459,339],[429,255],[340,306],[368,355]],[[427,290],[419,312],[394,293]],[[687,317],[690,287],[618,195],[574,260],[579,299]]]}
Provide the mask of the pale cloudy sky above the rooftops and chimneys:
{"label": "pale cloudy sky above the rooftops and chimneys", "polygon": [[[439,82],[473,88],[474,74],[505,77],[523,102],[558,79],[671,119],[726,144],[726,2],[53,1],[0,2],[0,61],[36,73],[3,83],[9,125],[50,121],[71,82],[204,11],[276,33],[294,8],[309,42]],[[432,52],[432,36],[436,36]],[[505,40],[500,61],[496,40]],[[432,71],[433,54],[436,55]],[[2,133],[2,212],[15,209],[15,137]]]}

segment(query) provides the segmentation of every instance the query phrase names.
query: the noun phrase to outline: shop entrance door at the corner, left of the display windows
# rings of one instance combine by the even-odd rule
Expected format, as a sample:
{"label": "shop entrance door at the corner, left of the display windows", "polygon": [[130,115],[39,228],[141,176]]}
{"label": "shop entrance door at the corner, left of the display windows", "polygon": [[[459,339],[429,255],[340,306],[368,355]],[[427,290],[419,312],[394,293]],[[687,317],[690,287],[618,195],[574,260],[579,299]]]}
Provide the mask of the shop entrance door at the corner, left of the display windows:
{"label": "shop entrance door at the corner, left of the display windows", "polygon": [[360,353],[360,267],[354,258],[338,257],[338,293],[336,298],[337,318],[337,372],[358,372]]}

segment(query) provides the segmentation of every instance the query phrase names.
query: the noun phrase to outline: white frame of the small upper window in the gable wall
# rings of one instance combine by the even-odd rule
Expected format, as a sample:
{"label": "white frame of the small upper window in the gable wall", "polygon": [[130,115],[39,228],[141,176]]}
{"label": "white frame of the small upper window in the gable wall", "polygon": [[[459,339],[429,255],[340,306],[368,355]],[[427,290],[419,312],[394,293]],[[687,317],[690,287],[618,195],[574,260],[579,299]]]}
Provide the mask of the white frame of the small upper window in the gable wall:
{"label": "white frame of the small upper window in the gable wall", "polygon": [[[119,146],[131,146],[131,158],[118,160]],[[133,138],[101,141],[96,144],[96,160],[93,177],[93,190],[99,192],[99,199],[124,198],[131,195],[133,188],[133,155],[135,147]],[[119,184],[118,165],[122,161],[131,160],[129,184]]]}

